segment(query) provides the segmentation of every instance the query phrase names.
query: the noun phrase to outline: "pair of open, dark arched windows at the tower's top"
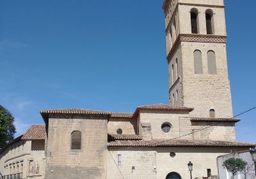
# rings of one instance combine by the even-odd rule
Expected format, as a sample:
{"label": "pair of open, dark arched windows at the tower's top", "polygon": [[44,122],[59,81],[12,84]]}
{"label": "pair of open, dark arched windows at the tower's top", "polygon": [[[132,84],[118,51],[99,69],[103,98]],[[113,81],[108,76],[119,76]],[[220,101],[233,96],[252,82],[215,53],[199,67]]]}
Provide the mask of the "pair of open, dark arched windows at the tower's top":
{"label": "pair of open, dark arched windows at the tower's top", "polygon": [[[199,33],[198,10],[196,10],[195,8],[193,8],[190,12],[190,20],[191,20],[191,33],[198,34]],[[213,35],[214,21],[213,21],[212,10],[205,11],[205,20],[206,20],[207,35]]]}

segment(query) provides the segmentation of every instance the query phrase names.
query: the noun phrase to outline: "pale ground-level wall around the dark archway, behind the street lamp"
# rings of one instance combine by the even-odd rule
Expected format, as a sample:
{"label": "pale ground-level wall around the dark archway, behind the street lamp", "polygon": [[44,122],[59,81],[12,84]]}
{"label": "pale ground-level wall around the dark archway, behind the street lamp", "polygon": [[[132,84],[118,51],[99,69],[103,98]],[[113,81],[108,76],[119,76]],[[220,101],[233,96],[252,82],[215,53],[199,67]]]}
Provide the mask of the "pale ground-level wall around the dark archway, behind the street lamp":
{"label": "pale ground-level wall around the dark archway, behind the street lamp", "polygon": [[[236,148],[242,151],[245,148]],[[188,163],[193,163],[193,178],[207,177],[207,169],[218,175],[216,159],[230,153],[232,148],[157,148],[157,178],[166,178],[171,172],[179,173],[181,178],[190,178]],[[170,157],[175,152],[175,157]],[[220,178],[226,179],[226,178]]]}

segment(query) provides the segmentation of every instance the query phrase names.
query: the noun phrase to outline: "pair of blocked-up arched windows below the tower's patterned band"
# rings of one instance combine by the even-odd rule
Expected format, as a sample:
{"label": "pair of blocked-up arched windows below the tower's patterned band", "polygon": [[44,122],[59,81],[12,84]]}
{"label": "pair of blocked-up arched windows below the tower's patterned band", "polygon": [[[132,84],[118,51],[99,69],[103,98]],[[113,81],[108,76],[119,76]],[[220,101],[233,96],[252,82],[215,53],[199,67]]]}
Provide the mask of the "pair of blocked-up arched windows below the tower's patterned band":
{"label": "pair of blocked-up arched windows below the tower's patterned band", "polygon": [[[208,65],[208,74],[216,75],[216,55],[214,51],[207,52],[207,65]],[[202,61],[202,52],[196,50],[194,52],[194,69],[195,74],[203,74],[203,61]]]}

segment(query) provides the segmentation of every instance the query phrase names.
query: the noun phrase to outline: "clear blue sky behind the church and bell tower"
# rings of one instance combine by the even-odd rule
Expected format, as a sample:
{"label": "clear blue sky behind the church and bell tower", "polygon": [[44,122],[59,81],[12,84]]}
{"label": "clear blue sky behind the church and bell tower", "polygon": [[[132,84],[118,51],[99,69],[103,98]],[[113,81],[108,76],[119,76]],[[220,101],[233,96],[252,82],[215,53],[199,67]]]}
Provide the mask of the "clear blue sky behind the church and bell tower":
{"label": "clear blue sky behind the church and bell tower", "polygon": [[[134,112],[168,103],[163,0],[0,2],[0,104],[17,135],[44,123],[40,109]],[[234,114],[256,105],[256,1],[226,0]],[[237,141],[256,143],[256,111]]]}

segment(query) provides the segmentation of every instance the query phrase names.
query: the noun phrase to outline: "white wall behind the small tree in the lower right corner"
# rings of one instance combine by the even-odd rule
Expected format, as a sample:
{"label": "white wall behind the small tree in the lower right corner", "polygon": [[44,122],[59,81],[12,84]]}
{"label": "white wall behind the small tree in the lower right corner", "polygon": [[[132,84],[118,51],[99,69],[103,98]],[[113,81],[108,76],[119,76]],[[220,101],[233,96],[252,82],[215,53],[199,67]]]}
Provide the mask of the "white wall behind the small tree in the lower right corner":
{"label": "white wall behind the small tree in the lower right corner", "polygon": [[228,155],[222,155],[218,157],[218,171],[219,171],[220,179],[231,178],[232,173],[229,173],[227,169],[223,168],[222,164],[223,162],[225,162],[225,160],[233,157],[238,159],[243,159],[245,162],[247,162],[245,171],[236,175],[234,179],[246,179],[246,178],[255,179],[255,166],[249,151],[245,151],[245,152],[236,151],[236,153],[231,153]]}

